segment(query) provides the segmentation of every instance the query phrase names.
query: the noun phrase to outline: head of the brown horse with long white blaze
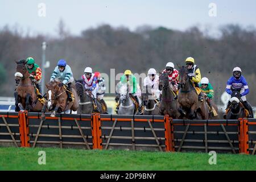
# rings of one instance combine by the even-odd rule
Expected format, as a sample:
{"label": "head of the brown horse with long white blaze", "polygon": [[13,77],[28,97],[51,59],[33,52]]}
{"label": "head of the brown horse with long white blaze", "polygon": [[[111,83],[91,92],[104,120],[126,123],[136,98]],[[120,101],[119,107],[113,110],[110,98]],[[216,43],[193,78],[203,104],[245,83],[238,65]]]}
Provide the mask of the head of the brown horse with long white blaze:
{"label": "head of the brown horse with long white blaze", "polygon": [[57,93],[59,92],[60,90],[60,87],[59,87],[59,83],[58,81],[50,81],[46,84],[46,98],[48,100],[47,102],[47,108],[48,110],[51,110],[52,109],[52,105],[54,104],[55,100],[56,100],[56,96],[57,96]]}

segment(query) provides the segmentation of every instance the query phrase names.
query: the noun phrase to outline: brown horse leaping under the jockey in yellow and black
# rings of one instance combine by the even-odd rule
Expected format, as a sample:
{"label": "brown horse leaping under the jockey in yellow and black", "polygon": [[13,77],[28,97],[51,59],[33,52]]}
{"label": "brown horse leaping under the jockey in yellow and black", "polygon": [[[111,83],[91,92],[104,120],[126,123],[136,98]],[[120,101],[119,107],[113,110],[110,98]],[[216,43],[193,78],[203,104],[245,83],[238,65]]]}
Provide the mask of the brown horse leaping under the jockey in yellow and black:
{"label": "brown horse leaping under the jockey in yellow and black", "polygon": [[188,77],[187,67],[179,70],[180,89],[177,98],[178,110],[182,118],[188,119],[209,119],[209,111],[205,97],[203,102],[198,100],[195,88]]}

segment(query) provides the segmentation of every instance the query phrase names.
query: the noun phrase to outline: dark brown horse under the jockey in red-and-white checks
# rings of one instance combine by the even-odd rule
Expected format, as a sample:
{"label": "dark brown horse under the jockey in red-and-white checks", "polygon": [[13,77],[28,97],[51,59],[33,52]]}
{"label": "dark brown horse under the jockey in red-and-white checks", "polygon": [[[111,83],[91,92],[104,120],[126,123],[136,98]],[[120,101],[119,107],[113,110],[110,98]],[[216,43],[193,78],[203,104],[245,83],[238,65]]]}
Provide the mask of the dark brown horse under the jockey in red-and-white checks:
{"label": "dark brown horse under the jockey in red-and-white checks", "polygon": [[159,105],[160,115],[170,115],[172,118],[179,118],[180,113],[177,110],[177,101],[174,100],[174,93],[171,90],[168,73],[160,73],[159,90],[162,90],[162,98]]}

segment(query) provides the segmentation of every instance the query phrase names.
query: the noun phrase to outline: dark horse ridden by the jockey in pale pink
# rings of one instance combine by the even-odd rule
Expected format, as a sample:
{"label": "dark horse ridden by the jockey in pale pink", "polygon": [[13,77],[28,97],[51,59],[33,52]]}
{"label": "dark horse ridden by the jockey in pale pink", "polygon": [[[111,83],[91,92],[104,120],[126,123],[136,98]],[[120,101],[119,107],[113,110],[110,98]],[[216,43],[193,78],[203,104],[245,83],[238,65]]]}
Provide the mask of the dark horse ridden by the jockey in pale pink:
{"label": "dark horse ridden by the jockey in pale pink", "polygon": [[142,102],[144,106],[143,115],[159,115],[159,107],[152,97],[151,89],[148,90],[147,86],[142,92]]}

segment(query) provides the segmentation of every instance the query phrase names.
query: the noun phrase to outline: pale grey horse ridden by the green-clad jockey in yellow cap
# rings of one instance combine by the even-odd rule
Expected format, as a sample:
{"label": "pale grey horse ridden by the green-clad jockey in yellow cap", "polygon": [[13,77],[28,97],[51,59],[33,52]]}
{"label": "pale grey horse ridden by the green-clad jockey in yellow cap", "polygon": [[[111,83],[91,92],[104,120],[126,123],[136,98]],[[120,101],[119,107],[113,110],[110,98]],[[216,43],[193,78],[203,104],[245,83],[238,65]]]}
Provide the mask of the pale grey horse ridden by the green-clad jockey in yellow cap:
{"label": "pale grey horse ridden by the green-clad jockey in yellow cap", "polygon": [[119,109],[118,109],[118,113],[117,114],[129,114],[129,115],[133,115],[136,112],[136,106],[133,102],[133,100],[131,99],[131,96],[129,94],[129,88],[127,86],[127,84],[122,84],[119,88],[119,94],[120,94],[120,98],[119,98]]}

